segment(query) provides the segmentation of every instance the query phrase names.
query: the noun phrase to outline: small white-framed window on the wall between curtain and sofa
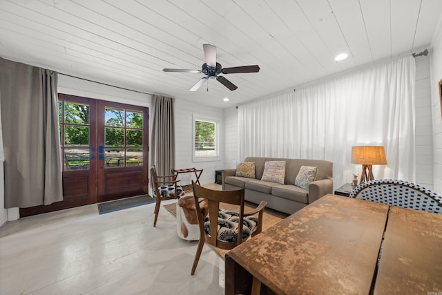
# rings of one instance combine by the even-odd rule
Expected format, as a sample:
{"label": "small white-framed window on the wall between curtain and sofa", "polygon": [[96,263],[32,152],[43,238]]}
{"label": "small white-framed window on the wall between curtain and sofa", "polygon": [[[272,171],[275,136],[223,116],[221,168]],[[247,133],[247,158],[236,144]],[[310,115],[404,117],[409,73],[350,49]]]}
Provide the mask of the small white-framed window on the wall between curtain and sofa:
{"label": "small white-framed window on the wall between curtain and sofa", "polygon": [[220,160],[218,149],[219,122],[193,115],[193,161]]}

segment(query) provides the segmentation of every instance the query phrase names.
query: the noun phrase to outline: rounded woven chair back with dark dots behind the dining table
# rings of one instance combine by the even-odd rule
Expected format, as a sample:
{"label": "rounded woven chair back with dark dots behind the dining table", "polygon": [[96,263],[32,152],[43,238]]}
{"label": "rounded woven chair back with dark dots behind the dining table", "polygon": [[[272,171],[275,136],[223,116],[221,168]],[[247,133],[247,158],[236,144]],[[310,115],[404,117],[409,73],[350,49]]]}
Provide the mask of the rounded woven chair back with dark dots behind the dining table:
{"label": "rounded woven chair back with dark dots behind the dining table", "polygon": [[403,180],[370,180],[359,184],[349,198],[442,214],[442,197],[419,184]]}

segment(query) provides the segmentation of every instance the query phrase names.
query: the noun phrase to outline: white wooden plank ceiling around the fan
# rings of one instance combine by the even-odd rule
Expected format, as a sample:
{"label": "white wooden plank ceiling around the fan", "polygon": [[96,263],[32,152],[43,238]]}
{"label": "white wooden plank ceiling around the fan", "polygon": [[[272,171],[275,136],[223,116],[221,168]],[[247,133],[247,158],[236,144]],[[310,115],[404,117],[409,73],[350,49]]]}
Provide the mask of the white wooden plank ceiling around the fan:
{"label": "white wooden plank ceiling around the fan", "polygon": [[[441,0],[0,0],[0,57],[227,108],[430,48],[441,12]],[[260,72],[189,92],[204,75],[162,69],[200,70],[202,44],[224,68]]]}

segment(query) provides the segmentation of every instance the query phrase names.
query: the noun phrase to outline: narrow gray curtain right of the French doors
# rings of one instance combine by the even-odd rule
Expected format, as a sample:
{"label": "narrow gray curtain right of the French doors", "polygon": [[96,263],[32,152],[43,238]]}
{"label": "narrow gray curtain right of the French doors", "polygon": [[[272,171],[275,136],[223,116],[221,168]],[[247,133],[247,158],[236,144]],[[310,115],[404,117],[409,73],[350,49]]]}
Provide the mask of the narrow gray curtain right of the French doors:
{"label": "narrow gray curtain right of the French doors", "polygon": [[175,99],[153,95],[151,164],[158,175],[175,169]]}

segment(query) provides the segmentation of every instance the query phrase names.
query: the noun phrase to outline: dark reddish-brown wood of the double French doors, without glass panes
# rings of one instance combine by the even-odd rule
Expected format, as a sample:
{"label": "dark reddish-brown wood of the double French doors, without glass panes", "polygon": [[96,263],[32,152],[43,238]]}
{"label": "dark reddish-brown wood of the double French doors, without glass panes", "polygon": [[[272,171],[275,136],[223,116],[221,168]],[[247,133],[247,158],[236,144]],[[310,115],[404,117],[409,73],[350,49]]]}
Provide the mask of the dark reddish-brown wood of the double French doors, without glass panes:
{"label": "dark reddish-brown wood of the double French doors, without glass panes", "polygon": [[[59,94],[59,100],[90,106],[89,128],[90,133],[94,135],[90,135],[89,169],[63,171],[64,200],[47,206],[20,208],[20,216],[32,216],[148,193],[148,108],[61,93]],[[100,160],[99,151],[100,146],[104,146],[104,132],[99,132],[99,128],[102,131],[104,130],[103,108],[106,106],[140,111],[144,114],[142,166],[122,166],[121,168],[106,169],[105,160]],[[63,133],[61,138],[64,138]],[[63,147],[63,143],[61,146]]]}

